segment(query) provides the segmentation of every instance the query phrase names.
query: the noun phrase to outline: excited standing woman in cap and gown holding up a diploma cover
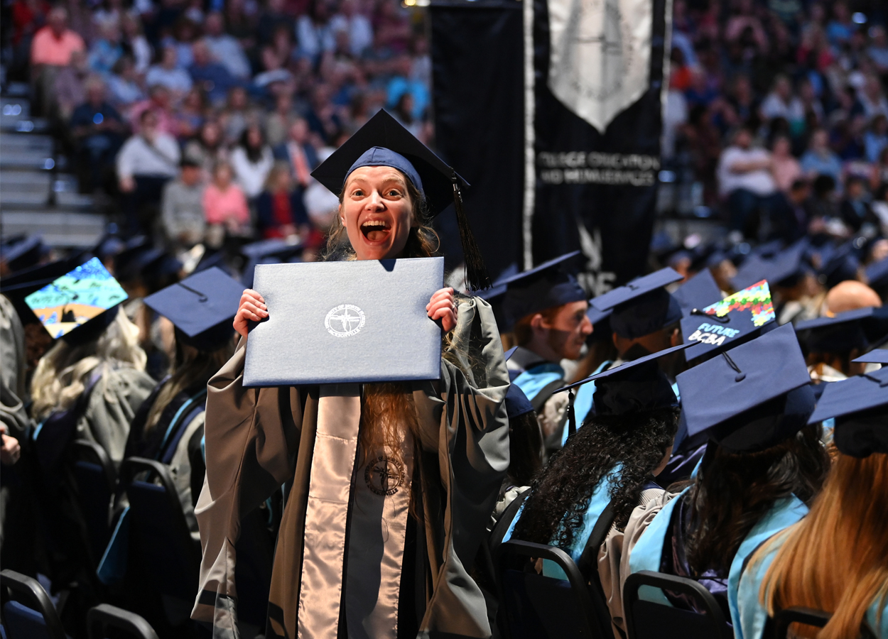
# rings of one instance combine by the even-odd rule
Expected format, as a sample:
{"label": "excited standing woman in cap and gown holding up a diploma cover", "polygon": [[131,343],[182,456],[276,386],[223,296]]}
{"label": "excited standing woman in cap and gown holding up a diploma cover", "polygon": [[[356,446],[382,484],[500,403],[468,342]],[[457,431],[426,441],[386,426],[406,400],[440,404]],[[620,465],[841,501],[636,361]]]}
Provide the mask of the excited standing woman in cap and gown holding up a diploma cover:
{"label": "excited standing woman in cap and gown holding up a diploma cover", "polygon": [[[374,116],[313,175],[339,193],[330,237],[338,255],[431,256],[437,242],[424,205],[434,214],[455,197],[468,280],[476,288],[486,280],[460,178],[389,114]],[[240,521],[286,482],[266,636],[490,636],[469,575],[509,464],[509,377],[488,304],[436,292],[427,312],[443,329],[440,379],[368,383],[351,396],[330,386],[243,387],[247,322],[267,311],[244,292],[234,320],[244,339],[208,387],[193,618],[236,636]]]}

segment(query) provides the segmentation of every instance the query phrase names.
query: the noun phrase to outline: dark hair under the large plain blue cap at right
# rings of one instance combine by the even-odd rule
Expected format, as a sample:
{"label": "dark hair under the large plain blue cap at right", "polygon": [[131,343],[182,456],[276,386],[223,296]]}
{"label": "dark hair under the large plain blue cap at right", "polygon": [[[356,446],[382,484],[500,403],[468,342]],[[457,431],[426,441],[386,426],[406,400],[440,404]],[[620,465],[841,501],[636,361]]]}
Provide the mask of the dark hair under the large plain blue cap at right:
{"label": "dark hair under the large plain blue cap at right", "polygon": [[691,507],[686,556],[694,574],[727,574],[737,548],[775,501],[795,494],[811,505],[829,471],[820,435],[819,425],[805,426],[758,453],[718,446],[685,497]]}

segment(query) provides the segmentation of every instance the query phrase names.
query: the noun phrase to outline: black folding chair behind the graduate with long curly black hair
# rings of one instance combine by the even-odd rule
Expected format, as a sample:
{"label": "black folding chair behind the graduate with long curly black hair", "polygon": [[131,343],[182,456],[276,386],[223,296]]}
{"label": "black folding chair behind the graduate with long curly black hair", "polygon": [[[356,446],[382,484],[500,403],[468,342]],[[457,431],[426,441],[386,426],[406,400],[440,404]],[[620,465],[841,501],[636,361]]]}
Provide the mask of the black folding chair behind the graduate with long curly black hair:
{"label": "black folding chair behind the graduate with long curly black hair", "polygon": [[[538,574],[535,559],[548,559],[567,575]],[[496,550],[499,626],[508,639],[609,639],[595,616],[586,580],[560,548],[509,540]]]}

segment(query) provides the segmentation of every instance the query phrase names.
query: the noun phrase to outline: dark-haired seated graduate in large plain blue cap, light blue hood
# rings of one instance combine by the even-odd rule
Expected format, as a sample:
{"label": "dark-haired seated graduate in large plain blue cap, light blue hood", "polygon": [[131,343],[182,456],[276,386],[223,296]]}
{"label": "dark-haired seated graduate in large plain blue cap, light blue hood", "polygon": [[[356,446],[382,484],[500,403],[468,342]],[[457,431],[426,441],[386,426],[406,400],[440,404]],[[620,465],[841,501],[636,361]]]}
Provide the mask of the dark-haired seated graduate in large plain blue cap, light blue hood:
{"label": "dark-haired seated graduate in large plain blue cap, light blue hood", "polygon": [[[710,445],[691,485],[675,499],[662,493],[638,507],[624,533],[608,537],[608,554],[621,557],[619,578],[614,571],[608,581],[602,572],[602,587],[622,617],[622,588],[632,572],[697,580],[737,627],[744,560],[805,516],[829,469],[820,429],[806,426],[813,389],[790,326],[687,370],[678,388],[689,435],[706,430]],[[691,605],[653,592],[655,601]]]}

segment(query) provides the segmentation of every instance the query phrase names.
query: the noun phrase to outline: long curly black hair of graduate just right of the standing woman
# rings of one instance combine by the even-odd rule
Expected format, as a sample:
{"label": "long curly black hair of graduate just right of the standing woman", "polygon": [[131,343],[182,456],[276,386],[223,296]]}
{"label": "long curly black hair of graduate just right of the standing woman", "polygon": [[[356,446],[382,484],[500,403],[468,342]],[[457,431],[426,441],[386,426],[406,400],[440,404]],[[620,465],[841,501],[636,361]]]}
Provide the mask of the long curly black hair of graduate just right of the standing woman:
{"label": "long curly black hair of graduate just right of the standing woman", "polygon": [[616,525],[625,526],[677,427],[678,408],[591,417],[536,477],[514,536],[571,546],[583,526],[592,492],[618,463],[622,471],[611,486],[610,498]]}

